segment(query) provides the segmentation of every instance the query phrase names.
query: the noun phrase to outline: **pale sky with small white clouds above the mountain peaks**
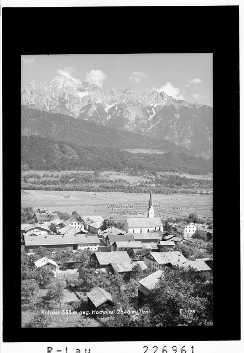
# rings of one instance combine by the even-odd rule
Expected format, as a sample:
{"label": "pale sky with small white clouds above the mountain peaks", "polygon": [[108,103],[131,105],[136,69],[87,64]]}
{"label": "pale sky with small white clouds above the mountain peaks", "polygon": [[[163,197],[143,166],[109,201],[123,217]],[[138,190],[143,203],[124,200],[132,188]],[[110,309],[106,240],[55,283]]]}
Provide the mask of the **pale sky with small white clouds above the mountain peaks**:
{"label": "pale sky with small white clouds above the mountain peaks", "polygon": [[22,55],[21,82],[57,75],[104,89],[157,89],[176,99],[212,106],[212,53]]}

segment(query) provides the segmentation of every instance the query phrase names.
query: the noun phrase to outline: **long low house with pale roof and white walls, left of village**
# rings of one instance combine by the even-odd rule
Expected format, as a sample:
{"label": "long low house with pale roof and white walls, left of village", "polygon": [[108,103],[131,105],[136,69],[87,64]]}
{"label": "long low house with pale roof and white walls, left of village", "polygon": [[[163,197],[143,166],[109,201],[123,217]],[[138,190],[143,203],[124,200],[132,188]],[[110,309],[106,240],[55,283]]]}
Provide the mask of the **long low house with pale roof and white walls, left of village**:
{"label": "long low house with pale roof and white walls, left of village", "polygon": [[[43,237],[26,237],[25,251],[35,252],[40,246],[58,250],[94,250],[98,251],[99,239],[91,234],[55,234]],[[126,253],[127,254],[127,253]]]}

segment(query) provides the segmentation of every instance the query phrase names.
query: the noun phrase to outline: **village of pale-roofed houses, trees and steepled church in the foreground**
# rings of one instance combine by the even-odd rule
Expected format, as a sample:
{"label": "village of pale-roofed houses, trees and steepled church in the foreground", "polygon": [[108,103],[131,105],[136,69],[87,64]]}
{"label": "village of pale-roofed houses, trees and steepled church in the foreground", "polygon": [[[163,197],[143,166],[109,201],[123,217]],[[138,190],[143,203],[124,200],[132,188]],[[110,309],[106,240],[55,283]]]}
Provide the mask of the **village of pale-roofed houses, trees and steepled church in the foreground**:
{"label": "village of pale-roofed houses, trees and steepled church in the foreground", "polygon": [[[63,220],[57,212],[39,207],[32,224],[21,224],[23,307],[41,310],[31,327],[48,325],[49,315],[42,313],[50,305],[64,316],[73,313],[72,320],[74,313],[88,313],[84,327],[133,326],[140,322],[138,315],[150,312],[143,306],[165,271],[192,270],[211,281],[212,220],[200,221],[194,214],[180,222],[154,217],[152,192],[147,217],[125,222],[76,211]],[[64,308],[65,303],[71,306]]]}

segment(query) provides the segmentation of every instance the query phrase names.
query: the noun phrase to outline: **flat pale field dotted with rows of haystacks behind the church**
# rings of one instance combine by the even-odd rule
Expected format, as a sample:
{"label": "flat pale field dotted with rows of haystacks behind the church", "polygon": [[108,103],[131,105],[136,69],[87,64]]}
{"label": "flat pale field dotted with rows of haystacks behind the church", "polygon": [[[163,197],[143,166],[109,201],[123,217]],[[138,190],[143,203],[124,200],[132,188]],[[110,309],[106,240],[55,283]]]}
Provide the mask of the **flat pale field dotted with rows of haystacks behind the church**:
{"label": "flat pale field dotted with rows of haystacks behind the church", "polygon": [[[53,211],[71,214],[77,211],[81,216],[101,215],[125,220],[127,217],[146,217],[149,194],[92,193],[80,191],[21,190],[21,205],[48,207]],[[154,194],[155,213],[163,218],[187,217],[194,212],[199,217],[212,216],[211,195]]]}

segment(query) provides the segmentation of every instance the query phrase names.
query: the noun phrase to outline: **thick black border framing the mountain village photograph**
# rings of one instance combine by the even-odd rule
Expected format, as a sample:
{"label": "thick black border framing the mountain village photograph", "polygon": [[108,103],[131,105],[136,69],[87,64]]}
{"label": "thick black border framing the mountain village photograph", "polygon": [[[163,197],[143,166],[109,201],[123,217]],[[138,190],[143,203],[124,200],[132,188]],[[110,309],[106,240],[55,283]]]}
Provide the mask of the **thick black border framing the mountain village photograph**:
{"label": "thick black border framing the mountain village photograph", "polygon": [[[198,52],[213,53],[213,326],[22,329],[20,55]],[[240,340],[239,6],[3,8],[2,106],[3,342]]]}

